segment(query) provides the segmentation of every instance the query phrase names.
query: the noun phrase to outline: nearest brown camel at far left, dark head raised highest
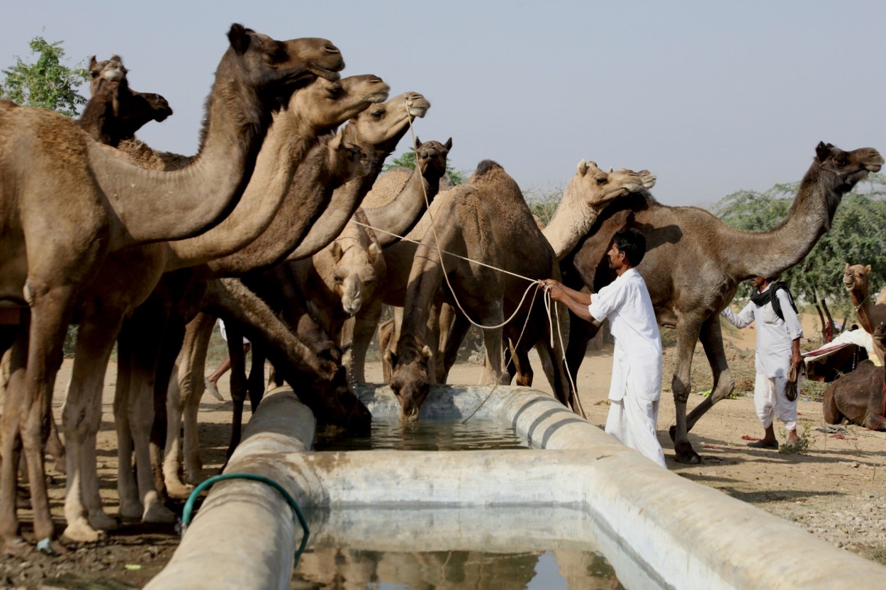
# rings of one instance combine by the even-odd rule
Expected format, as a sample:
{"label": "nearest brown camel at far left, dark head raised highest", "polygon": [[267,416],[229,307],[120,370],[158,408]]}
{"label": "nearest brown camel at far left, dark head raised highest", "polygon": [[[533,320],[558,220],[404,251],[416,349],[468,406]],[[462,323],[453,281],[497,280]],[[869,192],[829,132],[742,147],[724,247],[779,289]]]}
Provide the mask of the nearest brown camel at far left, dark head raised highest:
{"label": "nearest brown camel at far left, dark head raised highest", "polygon": [[[27,361],[14,353],[2,425],[0,536],[22,551],[15,514],[16,440],[27,458],[35,536],[54,536],[43,481],[43,416],[50,411],[65,327],[74,297],[95,276],[107,252],[127,245],[194,235],[228,213],[252,174],[258,148],[279,97],[320,74],[335,78],[344,63],[319,39],[278,42],[240,25],[216,71],[207,105],[201,157],[188,169],[156,173],[95,143],[76,123],[44,109],[0,105],[5,130],[0,175],[22,182],[0,192],[0,299],[29,307]],[[10,147],[14,146],[14,148]],[[224,165],[219,166],[223,159]],[[56,239],[47,241],[50,232]],[[3,343],[4,345],[6,343]],[[19,387],[19,385],[21,385]]]}

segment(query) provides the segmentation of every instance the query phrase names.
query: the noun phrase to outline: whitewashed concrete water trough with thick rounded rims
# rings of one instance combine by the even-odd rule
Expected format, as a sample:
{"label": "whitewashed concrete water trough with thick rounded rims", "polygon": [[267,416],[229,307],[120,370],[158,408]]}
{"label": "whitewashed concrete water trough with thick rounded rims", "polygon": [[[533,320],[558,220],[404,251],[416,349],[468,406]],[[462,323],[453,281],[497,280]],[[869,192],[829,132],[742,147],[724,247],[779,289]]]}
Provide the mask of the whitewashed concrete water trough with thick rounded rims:
{"label": "whitewashed concrete water trough with thick rounded rims", "polygon": [[[661,469],[545,393],[491,390],[433,386],[422,417],[504,421],[532,449],[310,452],[313,416],[282,387],[261,402],[226,472],[274,479],[312,536],[362,547],[600,547],[632,590],[886,587],[881,565]],[[397,414],[388,387],[357,392],[374,417]],[[287,588],[301,535],[271,486],[217,484],[146,587]]]}

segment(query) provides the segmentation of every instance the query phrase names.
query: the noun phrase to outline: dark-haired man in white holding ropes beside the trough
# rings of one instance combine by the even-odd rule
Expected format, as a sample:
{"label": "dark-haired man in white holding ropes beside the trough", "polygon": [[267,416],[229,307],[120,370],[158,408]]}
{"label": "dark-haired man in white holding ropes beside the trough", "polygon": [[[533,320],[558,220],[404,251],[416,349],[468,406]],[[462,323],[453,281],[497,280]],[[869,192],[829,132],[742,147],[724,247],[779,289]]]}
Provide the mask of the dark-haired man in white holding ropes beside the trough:
{"label": "dark-haired man in white holding ropes beside the trough", "polygon": [[554,279],[540,283],[551,299],[563,302],[586,322],[599,323],[609,318],[615,353],[606,432],[667,469],[656,436],[662,391],[662,342],[649,290],[634,268],[645,254],[646,237],[639,230],[619,229],[607,252],[610,268],[618,276],[600,292],[588,295]]}

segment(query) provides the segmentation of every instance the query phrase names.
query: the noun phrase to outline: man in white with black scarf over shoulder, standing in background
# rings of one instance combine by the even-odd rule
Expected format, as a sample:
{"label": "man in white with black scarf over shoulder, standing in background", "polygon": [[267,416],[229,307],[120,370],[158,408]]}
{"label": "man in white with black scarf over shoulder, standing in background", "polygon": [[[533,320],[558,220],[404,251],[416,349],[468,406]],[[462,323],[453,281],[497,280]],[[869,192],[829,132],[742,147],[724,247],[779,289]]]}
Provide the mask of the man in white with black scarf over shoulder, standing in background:
{"label": "man in white with black scarf over shoulder, standing in background", "polygon": [[[765,294],[771,287],[770,279],[765,276],[755,276],[752,279],[754,291]],[[769,293],[770,297],[772,293]],[[757,378],[754,383],[754,407],[757,409],[757,417],[763,424],[764,437],[761,440],[750,443],[749,446],[757,448],[778,448],[778,440],[775,438],[773,419],[777,417],[784,423],[788,431],[788,444],[796,445],[797,437],[797,398],[789,400],[785,392],[788,383],[788,374],[791,363],[800,363],[803,357],[800,354],[800,337],[803,336],[803,326],[797,318],[793,303],[788,291],[778,289],[775,291],[781,305],[781,313],[784,319],[775,313],[771,299],[758,305],[753,299],[760,299],[758,295],[750,300],[741,312],[735,314],[727,307],[721,314],[736,328],[744,328],[754,322],[757,328],[757,353],[754,364],[757,369]],[[797,377],[799,379],[799,377]],[[797,383],[799,388],[799,383]]]}

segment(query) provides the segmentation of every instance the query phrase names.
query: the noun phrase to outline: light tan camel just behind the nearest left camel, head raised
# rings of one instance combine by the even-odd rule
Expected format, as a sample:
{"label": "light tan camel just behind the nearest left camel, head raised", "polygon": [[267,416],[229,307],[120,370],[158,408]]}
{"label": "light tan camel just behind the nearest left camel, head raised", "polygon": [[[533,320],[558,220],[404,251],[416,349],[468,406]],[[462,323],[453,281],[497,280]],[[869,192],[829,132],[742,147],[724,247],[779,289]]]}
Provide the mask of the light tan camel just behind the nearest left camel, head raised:
{"label": "light tan camel just behind the nearest left camel, head raised", "polygon": [[[109,353],[122,318],[142,303],[151,293],[159,276],[165,270],[187,266],[212,257],[213,252],[224,254],[245,245],[268,227],[288,194],[294,169],[304,159],[305,152],[317,141],[317,136],[326,129],[338,125],[354,113],[365,109],[373,101],[383,100],[387,92],[384,82],[376,76],[352,76],[341,82],[325,80],[312,84],[307,89],[294,93],[289,108],[276,113],[265,144],[262,145],[256,173],[245,190],[244,197],[234,211],[214,229],[205,234],[175,243],[159,243],[129,248],[113,252],[99,278],[90,285],[83,295],[81,331],[82,341],[78,341],[78,353],[74,362],[74,375],[78,377],[69,392],[66,415],[72,416],[72,426],[76,434],[69,439],[83,444],[84,438],[94,439],[97,429],[97,415],[84,408],[90,404],[85,392],[91,387],[100,391],[101,377],[104,375],[106,354]],[[338,137],[337,145],[341,144]],[[347,155],[354,156],[350,148]],[[131,269],[137,268],[137,276],[131,276]],[[144,338],[144,335],[143,335]],[[100,351],[100,352],[99,352]],[[126,367],[126,363],[120,363]],[[120,383],[133,383],[123,377]],[[135,383],[133,383],[135,385]],[[145,388],[150,396],[152,388]],[[120,454],[124,464],[128,462],[128,447],[136,444],[136,454],[148,462],[147,431],[151,427],[151,413],[144,408],[147,401],[138,402],[136,395],[129,396],[126,388],[119,387],[119,398],[115,401],[115,415],[118,436],[122,441]],[[94,402],[91,403],[94,407]],[[74,416],[88,416],[85,423]],[[129,427],[127,427],[127,425]],[[139,434],[131,432],[131,428]],[[141,427],[141,428],[139,428]],[[138,444],[142,443],[144,444]],[[94,454],[82,454],[82,495],[87,509],[84,510],[81,494],[76,485],[78,477],[69,478],[71,484],[66,501],[68,529],[66,536],[76,540],[90,540],[98,533],[113,526],[113,519],[105,516],[97,495],[97,479],[94,475]],[[91,466],[91,467],[90,467]],[[174,515],[159,503],[157,492],[152,485],[150,470],[141,470],[139,484],[131,482],[131,470],[120,470],[120,514],[125,517],[141,517],[148,522],[164,521]],[[77,475],[80,475],[78,470]],[[85,516],[85,518],[84,518]]]}

